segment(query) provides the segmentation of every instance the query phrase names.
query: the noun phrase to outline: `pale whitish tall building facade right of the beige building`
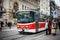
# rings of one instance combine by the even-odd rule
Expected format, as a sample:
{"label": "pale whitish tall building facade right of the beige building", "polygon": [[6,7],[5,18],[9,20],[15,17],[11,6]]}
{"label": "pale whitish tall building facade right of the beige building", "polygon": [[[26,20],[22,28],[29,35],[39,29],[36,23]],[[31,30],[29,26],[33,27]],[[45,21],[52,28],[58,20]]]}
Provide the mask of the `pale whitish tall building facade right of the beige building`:
{"label": "pale whitish tall building facade right of the beige building", "polygon": [[40,0],[40,13],[50,15],[50,0]]}

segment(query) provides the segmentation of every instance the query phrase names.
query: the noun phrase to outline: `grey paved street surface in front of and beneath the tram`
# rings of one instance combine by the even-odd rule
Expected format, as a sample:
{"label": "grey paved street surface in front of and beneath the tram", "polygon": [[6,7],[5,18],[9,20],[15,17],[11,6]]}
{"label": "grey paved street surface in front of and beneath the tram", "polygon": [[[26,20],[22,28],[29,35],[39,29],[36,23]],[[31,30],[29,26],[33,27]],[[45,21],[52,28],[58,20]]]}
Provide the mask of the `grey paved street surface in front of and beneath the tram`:
{"label": "grey paved street surface in front of and beneath the tram", "polygon": [[0,32],[0,40],[59,40],[59,39],[60,39],[60,30],[57,30],[56,36],[45,35],[45,31],[36,34],[30,34],[30,33],[19,34],[17,32],[16,27],[12,27],[12,29],[9,28],[3,29]]}

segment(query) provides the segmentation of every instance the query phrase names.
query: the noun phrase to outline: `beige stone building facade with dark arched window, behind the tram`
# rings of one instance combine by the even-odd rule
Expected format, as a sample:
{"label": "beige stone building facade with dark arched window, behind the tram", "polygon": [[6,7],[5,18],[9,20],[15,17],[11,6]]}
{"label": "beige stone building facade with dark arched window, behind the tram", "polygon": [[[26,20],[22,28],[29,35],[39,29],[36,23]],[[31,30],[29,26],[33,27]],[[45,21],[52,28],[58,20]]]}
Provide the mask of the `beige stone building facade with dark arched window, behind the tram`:
{"label": "beige stone building facade with dark arched window, behind the tram", "polygon": [[4,0],[3,7],[6,9],[6,19],[13,19],[13,12],[17,10],[30,10],[38,8],[37,0]]}

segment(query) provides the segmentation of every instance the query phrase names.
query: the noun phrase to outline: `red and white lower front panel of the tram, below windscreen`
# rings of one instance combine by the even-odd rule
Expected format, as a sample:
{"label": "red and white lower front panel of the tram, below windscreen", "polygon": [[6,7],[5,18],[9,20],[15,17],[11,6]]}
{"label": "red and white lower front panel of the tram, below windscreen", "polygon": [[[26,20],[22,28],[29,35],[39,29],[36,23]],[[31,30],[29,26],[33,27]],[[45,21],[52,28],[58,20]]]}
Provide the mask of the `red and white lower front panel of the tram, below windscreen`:
{"label": "red and white lower front panel of the tram, below windscreen", "polygon": [[18,31],[22,31],[22,29],[24,29],[24,32],[35,33],[36,32],[36,22],[26,23],[26,24],[17,23],[17,28],[18,28]]}

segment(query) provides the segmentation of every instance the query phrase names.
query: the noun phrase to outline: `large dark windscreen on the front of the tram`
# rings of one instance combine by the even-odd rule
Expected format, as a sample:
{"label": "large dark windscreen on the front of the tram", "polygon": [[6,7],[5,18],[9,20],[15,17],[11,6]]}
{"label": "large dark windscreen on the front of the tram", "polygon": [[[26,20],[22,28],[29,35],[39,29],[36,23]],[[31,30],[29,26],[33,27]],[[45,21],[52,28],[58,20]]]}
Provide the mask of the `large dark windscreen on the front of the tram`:
{"label": "large dark windscreen on the front of the tram", "polygon": [[28,11],[20,11],[17,13],[18,23],[30,23],[33,22],[32,16]]}

